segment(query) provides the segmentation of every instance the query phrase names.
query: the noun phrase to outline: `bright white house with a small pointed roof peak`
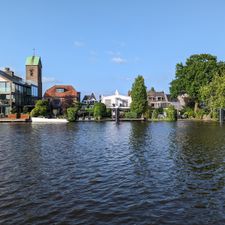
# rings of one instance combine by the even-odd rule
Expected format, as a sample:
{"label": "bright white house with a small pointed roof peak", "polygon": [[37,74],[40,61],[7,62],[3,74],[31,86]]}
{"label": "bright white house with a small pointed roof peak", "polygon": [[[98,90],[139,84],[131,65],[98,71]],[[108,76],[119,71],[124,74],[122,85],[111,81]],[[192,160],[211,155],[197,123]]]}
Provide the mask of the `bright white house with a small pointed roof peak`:
{"label": "bright white house with a small pointed roof peak", "polygon": [[120,95],[116,90],[114,95],[111,96],[101,96],[101,102],[106,105],[107,108],[121,108],[129,109],[131,104],[131,97]]}

